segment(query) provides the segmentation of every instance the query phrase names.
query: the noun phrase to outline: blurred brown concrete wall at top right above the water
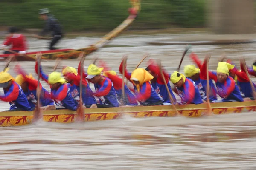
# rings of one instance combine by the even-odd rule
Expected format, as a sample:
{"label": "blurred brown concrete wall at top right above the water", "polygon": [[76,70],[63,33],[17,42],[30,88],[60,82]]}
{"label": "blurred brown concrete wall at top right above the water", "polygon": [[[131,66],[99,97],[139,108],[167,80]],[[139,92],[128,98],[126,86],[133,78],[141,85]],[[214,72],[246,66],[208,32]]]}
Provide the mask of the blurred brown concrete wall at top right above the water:
{"label": "blurred brown concrete wall at top right above the water", "polygon": [[208,26],[214,34],[254,33],[254,0],[207,0]]}

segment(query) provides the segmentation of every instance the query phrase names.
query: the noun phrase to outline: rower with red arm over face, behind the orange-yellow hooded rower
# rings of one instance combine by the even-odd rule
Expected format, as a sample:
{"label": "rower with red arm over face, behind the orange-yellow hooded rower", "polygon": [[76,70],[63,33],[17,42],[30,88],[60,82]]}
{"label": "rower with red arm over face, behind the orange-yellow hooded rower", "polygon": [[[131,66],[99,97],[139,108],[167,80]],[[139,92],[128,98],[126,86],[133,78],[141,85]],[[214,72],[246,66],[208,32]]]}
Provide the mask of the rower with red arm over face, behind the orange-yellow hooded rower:
{"label": "rower with red arm over face, behind the orange-yellow hooded rower", "polygon": [[[152,76],[154,76],[154,78],[151,80],[151,83],[152,83],[151,85],[157,92],[158,96],[160,96],[160,98],[163,100],[163,105],[171,105],[171,101],[170,101],[165,83],[163,81],[163,78],[161,77],[160,69],[153,60],[150,60],[150,64],[146,68],[146,71],[148,71]],[[172,92],[172,88],[169,82],[170,76],[164,70],[163,70],[163,75],[165,77],[166,84],[172,95],[172,98],[174,99],[174,104],[175,104],[177,101],[176,101],[175,95]]]}

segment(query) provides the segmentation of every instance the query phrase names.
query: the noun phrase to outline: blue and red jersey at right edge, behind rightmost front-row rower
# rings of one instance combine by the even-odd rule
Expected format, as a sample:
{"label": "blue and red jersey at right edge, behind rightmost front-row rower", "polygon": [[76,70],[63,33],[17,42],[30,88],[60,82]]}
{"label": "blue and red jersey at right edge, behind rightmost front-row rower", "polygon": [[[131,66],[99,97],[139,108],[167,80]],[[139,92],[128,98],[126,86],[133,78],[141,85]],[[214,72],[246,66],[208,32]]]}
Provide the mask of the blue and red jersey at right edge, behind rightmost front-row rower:
{"label": "blue and red jersey at right edge, behind rightmost front-row rower", "polygon": [[[236,74],[237,86],[241,91],[242,95],[244,95],[244,97],[253,97],[252,88],[250,85],[250,79],[247,77],[247,74],[244,70],[246,68],[244,68],[243,65],[240,65],[240,67],[241,67],[241,71],[238,71],[237,68],[235,67],[232,70],[230,70],[230,72],[232,72],[233,74]],[[254,83],[253,85],[255,87]]]}

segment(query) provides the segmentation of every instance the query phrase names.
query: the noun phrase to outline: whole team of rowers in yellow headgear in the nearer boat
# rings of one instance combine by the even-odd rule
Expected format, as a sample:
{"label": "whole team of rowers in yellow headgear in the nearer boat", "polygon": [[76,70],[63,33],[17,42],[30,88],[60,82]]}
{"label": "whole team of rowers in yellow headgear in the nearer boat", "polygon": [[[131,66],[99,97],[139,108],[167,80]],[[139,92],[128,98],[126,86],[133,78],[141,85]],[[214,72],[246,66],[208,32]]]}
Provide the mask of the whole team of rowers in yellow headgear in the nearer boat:
{"label": "whole team of rowers in yellow headgear in the nearer boat", "polygon": [[[37,56],[40,58],[41,54]],[[184,74],[177,71],[169,74],[163,71],[164,78],[161,77],[160,66],[154,60],[149,60],[147,68],[137,68],[128,72],[124,64],[127,58],[124,58],[119,71],[134,86],[131,89],[124,85],[124,96],[122,95],[122,78],[108,68],[104,69],[90,64],[87,73],[84,73],[81,63],[79,63],[78,71],[73,67],[64,67],[62,73],[54,71],[47,75],[39,65],[40,78],[50,85],[49,93],[41,84],[38,86],[38,80],[34,79],[31,74],[27,74],[20,65],[16,65],[15,71],[18,75],[15,79],[7,72],[7,69],[0,73],[0,87],[4,90],[0,99],[9,102],[11,105],[9,111],[32,111],[37,105],[37,96],[39,96],[37,93],[40,92],[41,109],[52,110],[56,109],[55,105],[58,105],[76,111],[79,108],[80,88],[82,88],[81,96],[84,108],[171,105],[168,91],[171,93],[174,104],[200,104],[207,101],[207,62],[209,57],[206,57],[204,62],[201,62],[193,52],[189,54],[189,57],[197,67],[186,65]],[[243,102],[253,100],[253,90],[245,72],[246,69],[250,75],[256,77],[256,63],[252,68],[244,68],[241,65],[241,70],[239,70],[230,60],[219,62],[216,71],[209,71],[209,101]],[[35,63],[35,71],[38,74],[38,62]],[[80,72],[83,74],[80,75]],[[82,86],[79,85],[81,77]],[[169,80],[175,86],[173,89]],[[95,92],[91,90],[88,82],[94,84]],[[173,92],[180,96],[181,102],[177,102]],[[217,99],[217,94],[221,100]],[[99,99],[98,102],[95,97]]]}

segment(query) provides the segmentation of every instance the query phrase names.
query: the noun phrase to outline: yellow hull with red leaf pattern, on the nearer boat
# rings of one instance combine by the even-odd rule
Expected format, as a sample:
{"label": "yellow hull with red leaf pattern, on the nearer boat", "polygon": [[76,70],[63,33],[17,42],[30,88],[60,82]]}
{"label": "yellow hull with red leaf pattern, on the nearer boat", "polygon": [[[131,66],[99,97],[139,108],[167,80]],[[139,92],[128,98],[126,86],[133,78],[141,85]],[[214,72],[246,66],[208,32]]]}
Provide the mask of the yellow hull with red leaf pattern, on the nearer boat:
{"label": "yellow hull with red leaf pattern, on the nearer boat", "polygon": [[[256,111],[256,102],[228,102],[212,103],[214,114],[241,113],[244,111]],[[136,106],[119,108],[96,108],[85,109],[85,121],[112,120],[118,119],[123,115],[131,117],[200,117],[204,115],[207,106],[200,105],[177,105],[180,115],[175,113],[172,106]],[[67,109],[42,111],[43,120],[46,122],[72,123],[75,120],[76,112]],[[33,111],[0,112],[1,126],[21,126],[32,123]]]}

